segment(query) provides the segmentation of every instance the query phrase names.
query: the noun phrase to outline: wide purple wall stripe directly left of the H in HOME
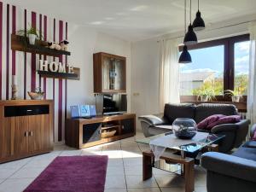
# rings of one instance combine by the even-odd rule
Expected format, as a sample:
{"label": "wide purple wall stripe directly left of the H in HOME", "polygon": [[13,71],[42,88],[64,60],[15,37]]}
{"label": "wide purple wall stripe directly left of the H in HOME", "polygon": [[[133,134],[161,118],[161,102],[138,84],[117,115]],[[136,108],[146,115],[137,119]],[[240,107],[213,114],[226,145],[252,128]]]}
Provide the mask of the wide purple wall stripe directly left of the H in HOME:
{"label": "wide purple wall stripe directly left of the H in HOME", "polygon": [[[33,27],[37,27],[37,14],[32,12],[31,22]],[[31,55],[31,90],[36,89],[36,54]]]}

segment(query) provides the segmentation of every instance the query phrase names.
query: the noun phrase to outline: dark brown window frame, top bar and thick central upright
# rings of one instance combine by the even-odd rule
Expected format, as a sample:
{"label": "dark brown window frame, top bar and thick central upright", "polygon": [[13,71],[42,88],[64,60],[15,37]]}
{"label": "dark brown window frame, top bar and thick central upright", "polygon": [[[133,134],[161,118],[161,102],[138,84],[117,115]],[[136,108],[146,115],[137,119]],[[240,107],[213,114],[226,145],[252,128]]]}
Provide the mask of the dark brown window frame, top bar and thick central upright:
{"label": "dark brown window frame, top bar and thick central upright", "polygon": [[[219,38],[216,40],[201,42],[188,45],[188,49],[204,49],[218,45],[224,45],[224,90],[234,90],[235,86],[235,44],[243,41],[249,41],[250,35],[243,34],[230,38]],[[183,50],[183,45],[178,46],[179,51]],[[193,58],[192,58],[193,59]],[[224,98],[221,98],[224,97]],[[182,100],[190,100],[195,96],[181,96]],[[187,99],[186,99],[187,98]],[[216,96],[217,101],[229,101],[225,96]],[[194,100],[194,99],[193,99]]]}

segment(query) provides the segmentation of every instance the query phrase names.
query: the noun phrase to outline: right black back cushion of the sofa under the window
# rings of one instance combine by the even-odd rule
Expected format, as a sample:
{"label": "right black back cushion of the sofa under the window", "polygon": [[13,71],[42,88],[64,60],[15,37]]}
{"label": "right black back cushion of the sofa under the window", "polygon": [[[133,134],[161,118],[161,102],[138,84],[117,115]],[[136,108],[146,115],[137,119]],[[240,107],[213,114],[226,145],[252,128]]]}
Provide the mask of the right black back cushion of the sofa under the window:
{"label": "right black back cushion of the sofa under the window", "polygon": [[202,103],[195,108],[195,122],[199,123],[212,114],[235,115],[236,106],[230,104]]}

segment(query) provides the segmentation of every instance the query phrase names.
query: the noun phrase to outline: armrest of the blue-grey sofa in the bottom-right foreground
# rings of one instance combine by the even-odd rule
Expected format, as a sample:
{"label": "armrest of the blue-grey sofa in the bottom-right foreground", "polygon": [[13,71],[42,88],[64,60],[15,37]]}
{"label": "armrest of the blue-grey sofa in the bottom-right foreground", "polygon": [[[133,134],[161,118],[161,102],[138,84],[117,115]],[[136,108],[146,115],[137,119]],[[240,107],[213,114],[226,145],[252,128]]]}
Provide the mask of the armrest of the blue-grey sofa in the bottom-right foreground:
{"label": "armrest of the blue-grey sofa in the bottom-right foreground", "polygon": [[207,171],[256,183],[256,163],[230,154],[207,152],[201,156],[201,166]]}

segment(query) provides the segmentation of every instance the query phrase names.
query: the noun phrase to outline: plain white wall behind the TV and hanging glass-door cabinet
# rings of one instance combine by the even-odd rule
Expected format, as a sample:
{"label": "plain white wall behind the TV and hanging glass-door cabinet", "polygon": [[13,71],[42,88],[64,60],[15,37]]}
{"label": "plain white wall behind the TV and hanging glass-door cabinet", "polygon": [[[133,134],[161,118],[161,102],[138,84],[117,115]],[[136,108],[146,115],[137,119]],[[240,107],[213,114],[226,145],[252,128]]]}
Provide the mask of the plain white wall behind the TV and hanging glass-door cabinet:
{"label": "plain white wall behind the TV and hanging glass-door cabinet", "polygon": [[107,52],[126,57],[126,89],[128,110],[131,111],[131,44],[119,38],[96,32],[84,26],[68,26],[69,49],[72,53],[69,63],[80,68],[80,80],[67,83],[67,109],[76,104],[95,104],[93,94],[93,53]]}

